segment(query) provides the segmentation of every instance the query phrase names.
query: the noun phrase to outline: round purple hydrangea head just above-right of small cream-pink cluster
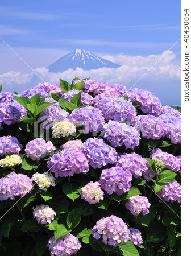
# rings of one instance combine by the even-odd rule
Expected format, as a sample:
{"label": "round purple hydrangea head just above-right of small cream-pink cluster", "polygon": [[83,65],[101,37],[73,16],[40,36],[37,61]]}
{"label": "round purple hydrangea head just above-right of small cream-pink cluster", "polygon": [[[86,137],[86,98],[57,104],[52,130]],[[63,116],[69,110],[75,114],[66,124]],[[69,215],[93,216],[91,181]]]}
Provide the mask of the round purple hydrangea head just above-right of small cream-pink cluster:
{"label": "round purple hydrangea head just above-right of small cream-pink cluster", "polygon": [[121,167],[111,167],[104,169],[101,173],[99,184],[101,188],[111,195],[113,192],[121,196],[130,190],[132,174],[124,171]]}

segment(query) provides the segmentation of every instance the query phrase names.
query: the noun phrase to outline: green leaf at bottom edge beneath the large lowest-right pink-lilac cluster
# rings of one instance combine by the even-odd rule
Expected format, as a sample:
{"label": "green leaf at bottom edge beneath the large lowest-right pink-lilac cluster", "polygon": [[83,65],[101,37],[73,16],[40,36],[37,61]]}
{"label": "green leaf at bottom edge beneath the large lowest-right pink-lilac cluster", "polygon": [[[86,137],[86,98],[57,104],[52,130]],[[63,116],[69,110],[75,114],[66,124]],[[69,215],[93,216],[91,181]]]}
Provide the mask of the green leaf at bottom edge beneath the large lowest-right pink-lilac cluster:
{"label": "green leaf at bottom edge beneath the large lowest-right pink-lilac cluster", "polygon": [[133,245],[130,241],[118,245],[116,252],[118,255],[123,256],[139,256],[138,250],[136,250],[135,245]]}

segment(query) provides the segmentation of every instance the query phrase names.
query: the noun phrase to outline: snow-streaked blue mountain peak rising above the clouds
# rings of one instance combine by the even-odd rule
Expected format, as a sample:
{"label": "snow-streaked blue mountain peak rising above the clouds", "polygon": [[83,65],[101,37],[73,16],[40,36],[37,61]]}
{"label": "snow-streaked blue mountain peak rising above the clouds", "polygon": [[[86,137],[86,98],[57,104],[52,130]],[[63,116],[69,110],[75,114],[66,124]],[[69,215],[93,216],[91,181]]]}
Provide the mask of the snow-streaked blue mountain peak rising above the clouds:
{"label": "snow-streaked blue mountain peak rising above the clouds", "polygon": [[118,68],[120,65],[115,64],[109,60],[98,57],[92,52],[82,49],[74,49],[67,55],[61,57],[47,68],[49,72],[63,72],[69,68],[76,69],[82,68],[85,70],[97,68]]}

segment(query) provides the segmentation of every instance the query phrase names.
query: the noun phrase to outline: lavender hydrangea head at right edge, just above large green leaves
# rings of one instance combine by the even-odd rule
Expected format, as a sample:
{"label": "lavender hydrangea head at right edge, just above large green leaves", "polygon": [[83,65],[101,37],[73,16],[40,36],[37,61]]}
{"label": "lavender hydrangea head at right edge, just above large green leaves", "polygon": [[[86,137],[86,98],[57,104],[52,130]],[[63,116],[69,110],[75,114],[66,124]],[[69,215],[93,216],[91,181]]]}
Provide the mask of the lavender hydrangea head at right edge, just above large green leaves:
{"label": "lavender hydrangea head at right edge, just above large green leaves", "polygon": [[173,156],[167,152],[163,152],[159,148],[152,150],[151,158],[152,160],[155,158],[162,160],[165,166],[174,172],[180,171],[180,160],[177,159],[176,156]]}

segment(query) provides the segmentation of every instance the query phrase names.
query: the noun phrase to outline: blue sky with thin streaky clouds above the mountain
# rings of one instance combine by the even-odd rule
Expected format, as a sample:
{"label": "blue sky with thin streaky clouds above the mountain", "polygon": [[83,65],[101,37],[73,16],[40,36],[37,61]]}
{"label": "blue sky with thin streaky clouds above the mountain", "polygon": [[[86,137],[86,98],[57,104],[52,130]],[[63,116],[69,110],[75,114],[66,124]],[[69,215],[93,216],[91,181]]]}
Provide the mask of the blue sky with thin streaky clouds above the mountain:
{"label": "blue sky with thin streaky clouds above the mountain", "polygon": [[[33,69],[75,48],[110,60],[121,54],[160,56],[180,38],[180,1],[1,0],[0,15],[1,38]],[[180,66],[180,42],[171,51],[168,65]],[[0,54],[0,80],[6,72],[31,72],[3,42]],[[180,81],[171,77],[169,84],[173,79],[178,93]]]}

